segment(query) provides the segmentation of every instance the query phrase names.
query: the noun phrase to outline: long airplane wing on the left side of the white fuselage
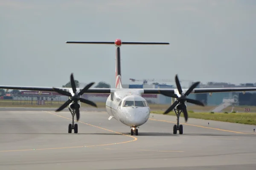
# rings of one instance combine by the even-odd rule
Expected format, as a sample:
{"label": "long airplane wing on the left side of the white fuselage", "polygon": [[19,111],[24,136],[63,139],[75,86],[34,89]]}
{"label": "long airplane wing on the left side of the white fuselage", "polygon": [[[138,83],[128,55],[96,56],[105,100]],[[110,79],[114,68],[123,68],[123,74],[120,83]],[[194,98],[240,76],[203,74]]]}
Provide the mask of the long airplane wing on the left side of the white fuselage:
{"label": "long airplane wing on the left side of the white fuselage", "polygon": [[[12,90],[29,90],[29,91],[54,91],[52,87],[36,87],[36,86],[11,86],[11,85],[0,85],[0,89],[12,89]],[[68,90],[70,88],[59,88],[61,90]],[[83,88],[79,88],[82,90]],[[110,94],[111,88],[89,88],[86,93],[104,93]]]}

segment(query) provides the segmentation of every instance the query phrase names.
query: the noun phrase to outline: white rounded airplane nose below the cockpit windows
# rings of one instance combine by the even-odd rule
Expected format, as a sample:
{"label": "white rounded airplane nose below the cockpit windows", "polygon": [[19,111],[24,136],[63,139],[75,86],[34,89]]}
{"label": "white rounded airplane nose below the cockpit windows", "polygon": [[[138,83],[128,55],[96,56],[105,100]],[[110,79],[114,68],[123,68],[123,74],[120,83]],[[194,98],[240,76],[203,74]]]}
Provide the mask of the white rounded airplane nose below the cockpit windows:
{"label": "white rounded airplane nose below the cockpit windows", "polygon": [[125,113],[125,123],[129,126],[143,125],[149,118],[149,108],[136,108],[129,107],[123,108],[122,112]]}

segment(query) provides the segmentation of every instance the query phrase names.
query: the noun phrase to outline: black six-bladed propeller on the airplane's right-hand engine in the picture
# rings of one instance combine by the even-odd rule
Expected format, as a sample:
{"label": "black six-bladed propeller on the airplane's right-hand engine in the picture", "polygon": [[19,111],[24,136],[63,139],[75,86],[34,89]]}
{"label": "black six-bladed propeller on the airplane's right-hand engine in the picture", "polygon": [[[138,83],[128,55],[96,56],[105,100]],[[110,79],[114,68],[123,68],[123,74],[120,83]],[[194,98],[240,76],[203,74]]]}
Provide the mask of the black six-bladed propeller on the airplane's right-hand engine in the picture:
{"label": "black six-bladed propeller on the airplane's right-hand engine in the picture", "polygon": [[188,112],[187,112],[187,109],[186,109],[185,102],[189,102],[189,103],[192,103],[192,104],[195,104],[195,105],[204,106],[204,103],[199,101],[199,100],[194,100],[194,99],[188,99],[187,98],[187,96],[194,90],[194,88],[197,85],[200,84],[200,82],[195,82],[193,85],[191,85],[190,88],[185,92],[185,94],[182,91],[180,81],[179,81],[179,78],[178,78],[177,74],[175,76],[175,82],[176,82],[177,90],[180,94],[180,97],[177,96],[177,94],[173,94],[173,93],[170,93],[168,91],[160,91],[160,94],[163,94],[164,96],[173,97],[173,98],[177,99],[163,114],[169,113],[170,111],[172,111],[178,105],[177,109],[183,111],[185,121],[187,122]]}

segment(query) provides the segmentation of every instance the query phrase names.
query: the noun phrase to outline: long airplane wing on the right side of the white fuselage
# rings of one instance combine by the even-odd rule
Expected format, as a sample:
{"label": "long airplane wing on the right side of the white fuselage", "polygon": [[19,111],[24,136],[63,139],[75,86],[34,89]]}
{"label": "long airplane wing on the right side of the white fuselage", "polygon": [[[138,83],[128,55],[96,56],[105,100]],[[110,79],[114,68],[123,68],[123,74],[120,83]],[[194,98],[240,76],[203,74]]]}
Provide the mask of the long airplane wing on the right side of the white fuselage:
{"label": "long airplane wing on the right side of the white fuselage", "polygon": [[[161,91],[166,91],[169,93],[175,93],[176,89],[174,88],[144,88],[143,94],[160,94]],[[183,89],[188,90],[188,89]],[[184,91],[184,92],[185,92]],[[191,94],[200,94],[200,93],[221,93],[221,92],[235,92],[235,91],[256,91],[256,88],[195,88]]]}

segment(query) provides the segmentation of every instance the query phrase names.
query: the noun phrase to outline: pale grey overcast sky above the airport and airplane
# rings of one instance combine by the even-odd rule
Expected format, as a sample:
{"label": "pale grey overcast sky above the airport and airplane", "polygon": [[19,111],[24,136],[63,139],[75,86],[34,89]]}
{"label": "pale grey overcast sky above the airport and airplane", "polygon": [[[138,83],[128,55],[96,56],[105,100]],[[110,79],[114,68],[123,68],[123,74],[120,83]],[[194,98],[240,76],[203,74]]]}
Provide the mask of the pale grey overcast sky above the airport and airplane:
{"label": "pale grey overcast sky above the airport and airplane", "polygon": [[65,42],[116,38],[170,42],[122,45],[123,84],[256,82],[255,18],[256,0],[0,0],[0,85],[114,87],[114,45]]}

